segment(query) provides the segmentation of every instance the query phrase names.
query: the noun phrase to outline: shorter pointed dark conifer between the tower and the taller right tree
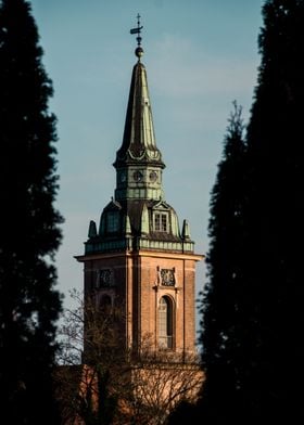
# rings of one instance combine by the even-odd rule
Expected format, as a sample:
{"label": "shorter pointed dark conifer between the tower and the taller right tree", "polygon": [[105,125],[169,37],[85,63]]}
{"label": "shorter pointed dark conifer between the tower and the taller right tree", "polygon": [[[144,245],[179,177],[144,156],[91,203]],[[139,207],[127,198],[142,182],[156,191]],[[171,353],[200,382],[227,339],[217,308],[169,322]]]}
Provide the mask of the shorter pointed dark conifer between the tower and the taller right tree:
{"label": "shorter pointed dark conifer between the tower and the taller right tree", "polygon": [[206,374],[201,409],[207,424],[236,421],[232,412],[240,401],[241,342],[248,332],[242,306],[245,168],[241,107],[235,102],[211,197],[208,282],[201,306]]}

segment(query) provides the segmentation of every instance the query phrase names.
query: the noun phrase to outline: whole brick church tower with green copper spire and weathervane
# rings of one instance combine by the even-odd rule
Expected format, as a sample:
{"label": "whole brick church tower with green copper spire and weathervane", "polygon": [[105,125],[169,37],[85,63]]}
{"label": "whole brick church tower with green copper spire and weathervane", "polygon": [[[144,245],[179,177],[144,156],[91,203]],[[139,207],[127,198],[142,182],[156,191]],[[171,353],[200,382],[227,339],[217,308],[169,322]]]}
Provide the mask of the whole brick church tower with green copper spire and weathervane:
{"label": "whole brick church tower with green copper spire and weathervane", "polygon": [[[116,153],[116,188],[97,227],[90,221],[84,262],[85,297],[97,308],[123,307],[126,347],[195,352],[195,262],[189,224],[181,230],[166,202],[165,164],[155,141],[147,70],[141,62],[140,23],[122,146]],[[86,348],[85,348],[86,349]]]}

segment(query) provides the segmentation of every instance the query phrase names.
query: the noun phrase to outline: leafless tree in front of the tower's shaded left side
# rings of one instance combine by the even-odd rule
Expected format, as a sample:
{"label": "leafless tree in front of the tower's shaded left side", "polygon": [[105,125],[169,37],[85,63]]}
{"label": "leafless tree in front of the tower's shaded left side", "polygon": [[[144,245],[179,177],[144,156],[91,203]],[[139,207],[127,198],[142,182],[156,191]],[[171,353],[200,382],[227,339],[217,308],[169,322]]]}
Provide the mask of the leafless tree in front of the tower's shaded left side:
{"label": "leafless tree in front of the tower's shaded left side", "polygon": [[119,332],[123,312],[121,308],[99,310],[93,298],[85,300],[76,289],[71,297],[75,307],[64,312],[61,366],[55,374],[63,417],[110,425],[114,416],[121,417],[117,395],[129,392],[129,368]]}

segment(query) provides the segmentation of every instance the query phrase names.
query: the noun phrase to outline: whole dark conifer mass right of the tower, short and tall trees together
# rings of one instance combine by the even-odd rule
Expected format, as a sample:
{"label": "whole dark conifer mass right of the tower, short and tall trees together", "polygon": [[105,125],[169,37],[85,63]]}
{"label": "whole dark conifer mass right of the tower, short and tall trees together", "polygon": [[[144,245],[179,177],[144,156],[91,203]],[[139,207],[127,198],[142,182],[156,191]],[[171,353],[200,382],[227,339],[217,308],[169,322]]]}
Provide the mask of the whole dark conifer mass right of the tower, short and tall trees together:
{"label": "whole dark conifer mass right of the tower, short and tall trees together", "polygon": [[230,127],[211,202],[206,423],[303,421],[304,1],[267,0],[263,17],[245,144],[229,158]]}

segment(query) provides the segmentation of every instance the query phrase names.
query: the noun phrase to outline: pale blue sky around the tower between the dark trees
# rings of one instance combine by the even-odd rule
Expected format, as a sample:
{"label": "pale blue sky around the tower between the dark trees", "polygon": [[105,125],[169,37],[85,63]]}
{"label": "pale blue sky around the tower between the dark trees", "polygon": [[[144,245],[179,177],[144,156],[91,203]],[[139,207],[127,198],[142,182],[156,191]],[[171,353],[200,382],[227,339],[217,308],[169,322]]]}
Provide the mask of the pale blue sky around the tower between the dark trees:
{"label": "pale blue sky around the tower between the dark trees", "polygon": [[[31,0],[53,81],[58,117],[58,208],[65,218],[58,254],[59,289],[83,287],[89,220],[99,222],[114,194],[136,16],[142,17],[143,64],[156,143],[166,164],[166,201],[187,218],[195,250],[207,250],[210,193],[227,119],[237,100],[246,121],[259,64],[262,0]],[[197,288],[205,278],[199,266]]]}

